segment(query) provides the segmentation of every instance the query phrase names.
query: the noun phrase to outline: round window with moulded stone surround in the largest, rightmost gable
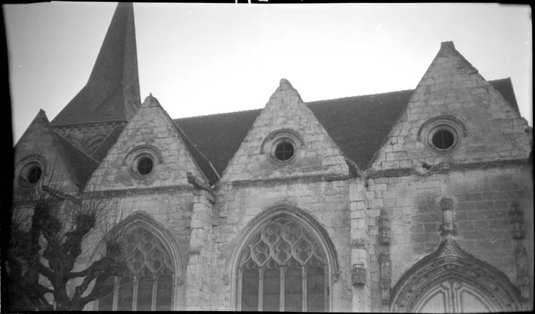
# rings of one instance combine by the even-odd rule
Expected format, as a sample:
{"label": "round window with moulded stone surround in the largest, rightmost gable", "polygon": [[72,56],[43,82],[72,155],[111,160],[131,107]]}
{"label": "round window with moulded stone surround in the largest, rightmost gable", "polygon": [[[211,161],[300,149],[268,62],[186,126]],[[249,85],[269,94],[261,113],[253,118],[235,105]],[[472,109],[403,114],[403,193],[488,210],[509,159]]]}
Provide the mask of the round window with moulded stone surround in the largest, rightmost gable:
{"label": "round window with moulded stone surround in the largest, rightmost gable", "polygon": [[466,136],[464,124],[454,116],[437,116],[426,121],[419,130],[418,138],[429,151],[452,153]]}

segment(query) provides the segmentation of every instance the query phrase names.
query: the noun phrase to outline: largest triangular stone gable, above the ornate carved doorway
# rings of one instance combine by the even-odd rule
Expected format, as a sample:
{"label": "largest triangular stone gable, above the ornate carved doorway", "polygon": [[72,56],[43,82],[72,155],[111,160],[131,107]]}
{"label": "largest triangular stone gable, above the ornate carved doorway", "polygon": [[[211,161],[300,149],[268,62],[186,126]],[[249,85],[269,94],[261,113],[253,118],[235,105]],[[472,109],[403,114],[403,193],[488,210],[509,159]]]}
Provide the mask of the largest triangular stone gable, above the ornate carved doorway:
{"label": "largest triangular stone gable, above the ornate carved doorway", "polygon": [[527,158],[527,122],[496,88],[443,42],[372,169]]}

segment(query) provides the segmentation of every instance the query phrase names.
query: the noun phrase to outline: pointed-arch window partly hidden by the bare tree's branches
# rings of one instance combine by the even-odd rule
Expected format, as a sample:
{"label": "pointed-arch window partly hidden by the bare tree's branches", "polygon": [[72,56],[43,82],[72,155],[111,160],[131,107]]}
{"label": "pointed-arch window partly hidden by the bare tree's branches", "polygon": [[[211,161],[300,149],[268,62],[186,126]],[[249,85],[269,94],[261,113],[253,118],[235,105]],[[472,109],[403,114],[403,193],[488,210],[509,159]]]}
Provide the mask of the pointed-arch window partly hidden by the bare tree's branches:
{"label": "pointed-arch window partly hidden by the bare tree's branches", "polygon": [[98,310],[171,310],[173,263],[161,240],[138,227],[125,242],[128,273],[108,279],[114,289],[98,301]]}

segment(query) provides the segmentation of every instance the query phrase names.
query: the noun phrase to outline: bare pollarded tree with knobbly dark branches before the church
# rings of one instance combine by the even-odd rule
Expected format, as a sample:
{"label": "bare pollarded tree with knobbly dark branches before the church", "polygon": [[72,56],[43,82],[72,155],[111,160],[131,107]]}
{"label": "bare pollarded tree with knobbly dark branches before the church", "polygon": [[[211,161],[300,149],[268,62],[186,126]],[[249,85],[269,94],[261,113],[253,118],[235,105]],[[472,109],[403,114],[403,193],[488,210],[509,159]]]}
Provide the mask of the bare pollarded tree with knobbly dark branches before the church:
{"label": "bare pollarded tree with knobbly dark branches before the church", "polygon": [[[6,261],[10,310],[82,310],[111,293],[105,283],[128,271],[118,233],[107,232],[121,219],[106,201],[79,200],[44,186],[32,211],[13,213]],[[113,218],[108,214],[113,213]],[[105,233],[106,251],[87,268],[75,271],[84,241],[91,233]],[[68,284],[78,279],[69,293]],[[5,304],[5,303],[4,303]]]}

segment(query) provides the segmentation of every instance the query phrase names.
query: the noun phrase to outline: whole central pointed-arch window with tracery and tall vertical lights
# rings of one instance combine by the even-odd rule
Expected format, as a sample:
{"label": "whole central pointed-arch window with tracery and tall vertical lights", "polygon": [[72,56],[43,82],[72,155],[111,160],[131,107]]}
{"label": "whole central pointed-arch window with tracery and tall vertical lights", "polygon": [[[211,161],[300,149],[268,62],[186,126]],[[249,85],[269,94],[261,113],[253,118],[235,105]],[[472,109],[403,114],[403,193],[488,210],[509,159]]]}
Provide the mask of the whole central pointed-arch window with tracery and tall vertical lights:
{"label": "whole central pointed-arch window with tracery and tall vertical lights", "polygon": [[238,268],[240,310],[327,310],[325,254],[294,221],[272,218],[246,246]]}

